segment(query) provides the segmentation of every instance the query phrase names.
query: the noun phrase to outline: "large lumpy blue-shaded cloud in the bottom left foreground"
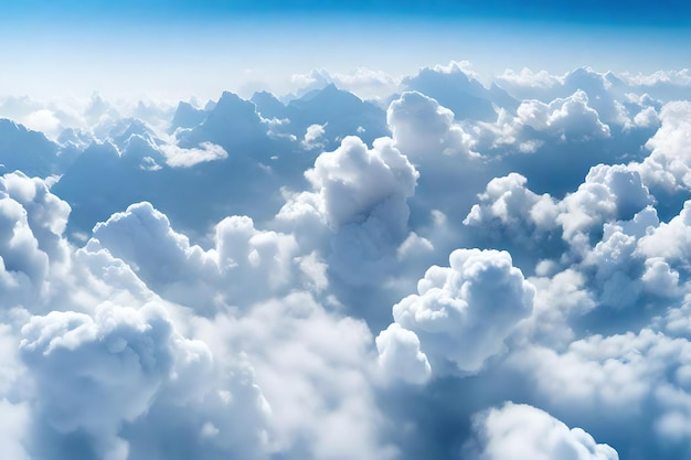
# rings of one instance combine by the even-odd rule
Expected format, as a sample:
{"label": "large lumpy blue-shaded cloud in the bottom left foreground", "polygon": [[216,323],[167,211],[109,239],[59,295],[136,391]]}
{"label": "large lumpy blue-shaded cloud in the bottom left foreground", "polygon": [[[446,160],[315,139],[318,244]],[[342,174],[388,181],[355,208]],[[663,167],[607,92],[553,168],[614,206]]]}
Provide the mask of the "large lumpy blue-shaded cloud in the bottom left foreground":
{"label": "large lumpy blue-shaded cloud in the bottom left foreground", "polygon": [[[178,431],[173,439],[183,437],[213,458],[220,451],[259,458],[268,413],[247,382],[251,374],[223,377],[206,345],[182,338],[160,307],[106,302],[93,315],[52,312],[32,317],[22,335],[21,355],[36,393],[33,456],[63,458],[85,449],[113,460],[162,458]],[[159,411],[177,414],[178,421],[157,420]],[[230,422],[233,413],[244,425]],[[146,424],[147,438],[130,432],[143,419],[160,429]],[[83,440],[47,441],[70,436]]]}

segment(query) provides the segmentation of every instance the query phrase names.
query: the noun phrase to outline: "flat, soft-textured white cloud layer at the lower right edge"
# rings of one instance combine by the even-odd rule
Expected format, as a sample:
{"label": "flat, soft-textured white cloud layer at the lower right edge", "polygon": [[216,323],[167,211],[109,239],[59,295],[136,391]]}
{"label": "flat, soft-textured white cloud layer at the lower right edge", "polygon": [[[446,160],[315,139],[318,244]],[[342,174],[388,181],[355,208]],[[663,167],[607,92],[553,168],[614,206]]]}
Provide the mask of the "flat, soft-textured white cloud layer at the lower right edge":
{"label": "flat, soft-textured white cloud layer at the lower right edge", "polygon": [[644,329],[593,335],[563,352],[532,347],[513,364],[529,370],[540,399],[554,410],[578,414],[600,429],[602,424],[645,427],[651,437],[637,440],[635,449],[644,451],[658,442],[685,456],[688,355],[687,338]]}

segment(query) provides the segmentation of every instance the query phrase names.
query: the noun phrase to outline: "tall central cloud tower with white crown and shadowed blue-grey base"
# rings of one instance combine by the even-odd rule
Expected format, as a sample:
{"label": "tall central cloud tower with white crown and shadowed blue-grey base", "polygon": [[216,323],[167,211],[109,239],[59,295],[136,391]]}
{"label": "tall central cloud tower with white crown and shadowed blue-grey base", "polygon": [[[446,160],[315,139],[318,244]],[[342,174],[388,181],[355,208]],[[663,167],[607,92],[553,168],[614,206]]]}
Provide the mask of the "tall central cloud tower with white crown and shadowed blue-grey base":
{"label": "tall central cloud tower with white crown and shadowed blue-grey base", "polygon": [[[312,191],[290,197],[278,218],[307,235],[318,235],[315,224],[326,224],[329,268],[349,284],[378,282],[410,236],[406,200],[415,192],[415,167],[391,138],[369,149],[360,138],[347,137],[333,152],[321,153],[305,176]],[[318,239],[301,246],[313,247]]]}

